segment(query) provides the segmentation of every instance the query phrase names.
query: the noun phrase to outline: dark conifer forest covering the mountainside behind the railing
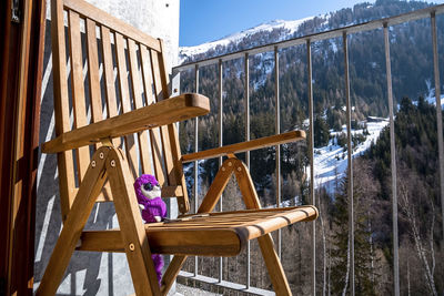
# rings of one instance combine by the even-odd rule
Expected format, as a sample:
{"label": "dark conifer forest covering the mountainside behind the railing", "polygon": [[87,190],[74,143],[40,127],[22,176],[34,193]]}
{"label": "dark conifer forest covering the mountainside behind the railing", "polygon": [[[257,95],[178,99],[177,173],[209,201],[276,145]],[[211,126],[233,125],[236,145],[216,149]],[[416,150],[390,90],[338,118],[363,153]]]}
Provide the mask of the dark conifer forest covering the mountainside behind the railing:
{"label": "dark conifer forest covering the mountainside behind the railing", "polygon": [[[356,4],[304,22],[293,37],[396,16],[431,6],[420,1],[377,0]],[[444,17],[437,16],[441,76],[444,69]],[[258,32],[226,47],[189,57],[201,60],[281,40],[285,29]],[[291,37],[287,37],[291,38]],[[397,165],[400,284],[401,295],[444,294],[444,237],[437,160],[436,109],[426,96],[434,95],[430,19],[390,28]],[[383,31],[349,38],[352,127],[365,131],[369,116],[387,118],[387,91]],[[342,39],[312,44],[314,91],[314,146],[332,141],[332,132],[345,124],[345,92]],[[223,144],[245,140],[243,60],[223,63]],[[251,139],[275,133],[273,52],[250,57]],[[181,73],[181,92],[194,90],[194,73]],[[211,113],[198,120],[199,150],[219,146],[219,88],[216,65],[200,69],[200,93],[210,98]],[[281,132],[307,130],[306,49],[280,50]],[[396,108],[397,106],[397,108]],[[182,153],[194,152],[194,124],[180,125]],[[365,137],[365,132],[362,137]],[[346,137],[334,141],[344,147]],[[355,135],[353,147],[363,141]],[[392,172],[390,130],[353,161],[354,252],[356,295],[393,294]],[[238,155],[244,160],[245,155]],[[305,141],[281,146],[281,188],[285,205],[311,203],[309,154]],[[203,198],[219,166],[219,160],[199,163],[199,198]],[[193,164],[185,167],[189,188],[194,185]],[[264,206],[276,204],[275,149],[251,152],[250,170]],[[332,188],[316,185],[316,290],[322,295],[350,293],[349,176],[337,174]],[[190,197],[194,203],[193,194]],[[193,206],[193,205],[192,205]],[[242,208],[239,188],[232,180],[223,194],[223,210]],[[310,294],[312,224],[300,223],[282,231],[282,262],[293,294]],[[275,235],[275,234],[274,234]],[[278,238],[274,236],[275,239]],[[251,285],[271,289],[259,246],[251,245]],[[223,258],[223,279],[246,282],[245,252]],[[194,261],[185,268],[193,271]],[[199,273],[218,277],[219,258],[199,258]],[[224,292],[230,295],[230,292]],[[236,295],[236,294],[233,294]]]}

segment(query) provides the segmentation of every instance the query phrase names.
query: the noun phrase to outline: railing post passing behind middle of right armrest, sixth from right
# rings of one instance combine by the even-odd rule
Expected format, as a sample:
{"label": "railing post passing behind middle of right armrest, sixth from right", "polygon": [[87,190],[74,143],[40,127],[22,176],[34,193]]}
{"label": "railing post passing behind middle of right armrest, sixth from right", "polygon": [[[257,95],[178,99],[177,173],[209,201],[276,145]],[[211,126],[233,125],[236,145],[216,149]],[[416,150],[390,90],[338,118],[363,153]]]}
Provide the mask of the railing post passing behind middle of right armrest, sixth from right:
{"label": "railing post passing behind middle of right armrest, sixth from right", "polygon": [[[250,62],[249,53],[245,53],[244,58],[245,65],[245,141],[250,141]],[[250,151],[245,152],[246,166],[250,169]],[[250,277],[251,277],[251,245],[250,241],[246,243],[246,289],[250,288]]]}

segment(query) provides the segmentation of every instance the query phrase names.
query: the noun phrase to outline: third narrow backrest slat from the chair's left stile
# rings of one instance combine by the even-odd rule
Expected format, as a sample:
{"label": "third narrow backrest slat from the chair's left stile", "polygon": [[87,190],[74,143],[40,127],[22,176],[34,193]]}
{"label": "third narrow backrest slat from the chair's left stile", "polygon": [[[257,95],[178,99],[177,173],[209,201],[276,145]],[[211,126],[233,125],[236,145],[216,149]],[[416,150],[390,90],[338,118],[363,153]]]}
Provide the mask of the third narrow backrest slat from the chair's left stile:
{"label": "third narrow backrest slat from the chair's left stile", "polygon": [[[104,93],[107,96],[108,118],[117,116],[118,103],[115,98],[114,84],[114,67],[112,60],[110,29],[104,25],[100,27],[102,38],[102,59],[103,59],[103,78],[104,78]],[[121,145],[120,137],[112,139],[112,144],[118,147]]]}

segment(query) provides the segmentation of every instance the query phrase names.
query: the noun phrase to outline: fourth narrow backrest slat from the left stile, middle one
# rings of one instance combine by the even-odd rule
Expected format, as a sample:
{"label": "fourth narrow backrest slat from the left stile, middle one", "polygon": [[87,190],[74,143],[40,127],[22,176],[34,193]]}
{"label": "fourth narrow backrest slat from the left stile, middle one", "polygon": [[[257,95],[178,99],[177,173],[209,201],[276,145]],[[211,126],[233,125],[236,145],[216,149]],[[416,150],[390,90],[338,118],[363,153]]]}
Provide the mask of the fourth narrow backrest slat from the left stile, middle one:
{"label": "fourth narrow backrest slat from the left stile, middle one", "polygon": [[[119,71],[119,82],[120,82],[120,100],[122,104],[123,113],[131,111],[130,101],[130,89],[128,85],[128,73],[127,73],[127,58],[125,58],[125,40],[120,33],[115,33],[115,51],[118,55],[118,71]],[[127,157],[130,164],[130,171],[133,177],[139,175],[139,161],[137,155],[137,146],[134,141],[134,135],[130,134],[125,136],[125,150]]]}

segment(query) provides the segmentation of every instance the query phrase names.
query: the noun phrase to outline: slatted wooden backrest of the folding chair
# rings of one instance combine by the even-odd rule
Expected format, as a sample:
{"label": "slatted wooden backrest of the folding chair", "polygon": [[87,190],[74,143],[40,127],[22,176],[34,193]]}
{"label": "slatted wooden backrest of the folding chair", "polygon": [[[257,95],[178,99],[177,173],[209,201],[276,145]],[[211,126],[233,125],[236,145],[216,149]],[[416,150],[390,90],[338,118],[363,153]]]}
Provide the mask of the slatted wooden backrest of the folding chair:
{"label": "slatted wooden backrest of the folding chair", "polygon": [[[107,118],[114,118],[169,98],[161,40],[147,35],[83,0],[52,0],[52,7],[57,136],[103,120],[103,112],[107,112]],[[68,13],[68,44],[64,11]],[[68,83],[67,48],[71,89]],[[85,60],[87,72],[83,67]],[[123,137],[124,145],[121,145],[121,137],[110,140],[114,146],[124,149],[132,177],[141,173],[154,174],[159,183],[165,186],[165,194],[175,192],[180,195],[176,196],[179,203],[188,204],[174,124],[127,135]],[[100,145],[95,144],[92,150]],[[58,154],[63,220],[89,166],[90,149],[82,146]],[[112,201],[108,183],[98,201]],[[184,208],[188,210],[188,206],[180,206],[182,213],[186,212]]]}

